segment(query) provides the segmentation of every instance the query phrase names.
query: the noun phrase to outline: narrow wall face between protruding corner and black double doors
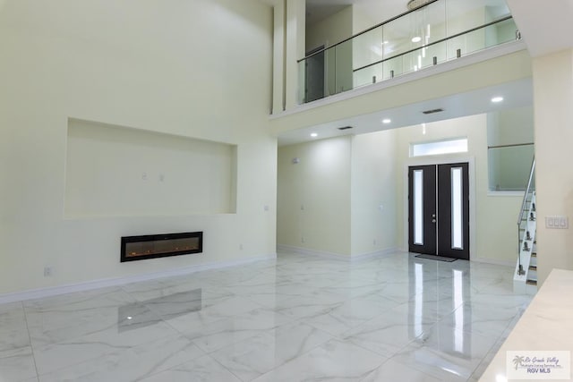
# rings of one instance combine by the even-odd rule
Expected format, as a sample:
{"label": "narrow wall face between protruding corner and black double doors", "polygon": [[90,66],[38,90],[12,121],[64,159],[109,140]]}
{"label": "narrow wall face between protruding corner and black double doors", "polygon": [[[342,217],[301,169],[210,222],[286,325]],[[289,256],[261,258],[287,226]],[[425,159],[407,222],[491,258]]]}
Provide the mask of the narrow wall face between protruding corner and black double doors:
{"label": "narrow wall face between protruding corner and black double doors", "polygon": [[352,145],[352,256],[397,248],[396,130],[356,135]]}

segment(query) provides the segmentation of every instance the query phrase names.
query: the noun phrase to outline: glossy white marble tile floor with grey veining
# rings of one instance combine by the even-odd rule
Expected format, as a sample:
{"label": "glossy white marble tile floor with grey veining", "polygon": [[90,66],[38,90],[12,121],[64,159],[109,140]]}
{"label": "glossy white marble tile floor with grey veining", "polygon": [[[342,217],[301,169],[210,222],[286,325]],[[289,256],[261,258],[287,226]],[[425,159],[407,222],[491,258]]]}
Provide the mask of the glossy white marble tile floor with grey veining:
{"label": "glossy white marble tile floor with grey veining", "polygon": [[512,267],[276,260],[0,305],[0,382],[477,381],[526,309]]}

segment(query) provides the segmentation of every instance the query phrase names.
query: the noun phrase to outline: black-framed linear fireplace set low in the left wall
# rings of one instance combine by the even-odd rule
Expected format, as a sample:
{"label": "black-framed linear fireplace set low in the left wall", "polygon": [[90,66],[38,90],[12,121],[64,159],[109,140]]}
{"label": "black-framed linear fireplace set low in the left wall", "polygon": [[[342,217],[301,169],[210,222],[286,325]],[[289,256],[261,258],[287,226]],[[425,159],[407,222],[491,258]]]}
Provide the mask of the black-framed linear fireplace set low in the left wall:
{"label": "black-framed linear fireplace set low in the left wall", "polygon": [[122,237],[121,262],[201,253],[203,233],[165,233]]}

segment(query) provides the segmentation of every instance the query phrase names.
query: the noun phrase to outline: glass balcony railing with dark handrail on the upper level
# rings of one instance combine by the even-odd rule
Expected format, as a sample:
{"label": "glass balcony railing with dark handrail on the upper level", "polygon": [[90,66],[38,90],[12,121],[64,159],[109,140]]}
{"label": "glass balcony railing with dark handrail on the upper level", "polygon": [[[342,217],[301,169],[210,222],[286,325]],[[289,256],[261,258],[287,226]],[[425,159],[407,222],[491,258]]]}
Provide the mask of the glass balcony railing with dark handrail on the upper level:
{"label": "glass balcony railing with dark handrail on the upper level", "polygon": [[299,103],[386,81],[519,38],[503,0],[434,0],[299,65]]}

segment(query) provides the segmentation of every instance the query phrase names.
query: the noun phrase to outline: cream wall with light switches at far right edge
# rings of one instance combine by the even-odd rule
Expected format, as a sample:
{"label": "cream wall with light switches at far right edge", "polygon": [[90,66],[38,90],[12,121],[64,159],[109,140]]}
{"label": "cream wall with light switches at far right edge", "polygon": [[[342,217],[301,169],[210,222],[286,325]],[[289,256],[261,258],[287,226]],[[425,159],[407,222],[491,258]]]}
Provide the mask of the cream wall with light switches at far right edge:
{"label": "cream wall with light switches at far right edge", "polygon": [[[573,50],[535,57],[535,190],[538,284],[553,268],[573,270]],[[547,229],[546,216],[569,217],[569,229]]]}

